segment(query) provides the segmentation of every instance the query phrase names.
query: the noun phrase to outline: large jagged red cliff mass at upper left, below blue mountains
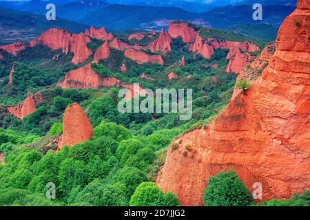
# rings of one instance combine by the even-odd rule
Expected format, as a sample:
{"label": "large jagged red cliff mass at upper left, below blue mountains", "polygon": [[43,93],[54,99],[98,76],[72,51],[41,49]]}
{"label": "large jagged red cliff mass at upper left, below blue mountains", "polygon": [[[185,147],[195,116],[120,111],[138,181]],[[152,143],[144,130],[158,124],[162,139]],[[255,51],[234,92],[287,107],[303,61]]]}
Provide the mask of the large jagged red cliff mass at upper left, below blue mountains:
{"label": "large jagged red cliff mass at upper left, below blue mountains", "polygon": [[90,38],[86,34],[70,34],[66,30],[51,28],[30,42],[30,47],[42,44],[52,50],[62,50],[63,53],[73,52],[72,63],[83,63],[92,55],[92,51],[87,47]]}

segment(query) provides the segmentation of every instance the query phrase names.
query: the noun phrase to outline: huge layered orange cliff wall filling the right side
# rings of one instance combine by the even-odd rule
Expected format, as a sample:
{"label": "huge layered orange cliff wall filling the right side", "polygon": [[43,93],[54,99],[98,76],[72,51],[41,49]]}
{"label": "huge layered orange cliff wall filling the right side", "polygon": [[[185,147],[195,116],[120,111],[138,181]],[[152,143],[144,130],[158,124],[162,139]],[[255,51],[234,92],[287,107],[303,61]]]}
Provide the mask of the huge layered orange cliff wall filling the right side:
{"label": "huge layered orange cliff wall filling the right side", "polygon": [[203,205],[209,177],[231,167],[248,188],[262,184],[263,200],[310,188],[309,8],[309,0],[298,1],[285,19],[262,78],[244,94],[237,92],[209,126],[169,148],[157,184],[183,205]]}

